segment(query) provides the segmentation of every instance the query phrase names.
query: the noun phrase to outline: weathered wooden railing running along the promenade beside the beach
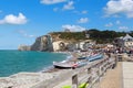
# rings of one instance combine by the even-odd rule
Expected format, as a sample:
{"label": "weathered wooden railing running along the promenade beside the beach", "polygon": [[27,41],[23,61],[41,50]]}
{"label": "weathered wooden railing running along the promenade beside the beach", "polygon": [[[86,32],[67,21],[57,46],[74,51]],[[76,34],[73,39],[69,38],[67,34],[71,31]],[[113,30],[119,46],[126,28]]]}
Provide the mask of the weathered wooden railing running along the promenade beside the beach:
{"label": "weathered wooden railing running along the promenade beside the beach", "polygon": [[[80,75],[81,73],[78,73],[72,76],[72,82],[73,82],[72,88],[79,88],[81,84],[84,85],[84,87],[82,88],[92,88],[96,81],[101,80],[101,77],[105,74],[105,72],[110,68],[114,68],[115,65],[116,65],[115,57],[104,58],[104,59],[92,63],[91,66],[86,67],[88,73],[83,79],[75,80],[75,79],[79,79],[75,77],[78,77],[78,75]],[[85,72],[82,72],[82,73],[85,73]],[[88,84],[89,86],[85,87],[85,85]]]}

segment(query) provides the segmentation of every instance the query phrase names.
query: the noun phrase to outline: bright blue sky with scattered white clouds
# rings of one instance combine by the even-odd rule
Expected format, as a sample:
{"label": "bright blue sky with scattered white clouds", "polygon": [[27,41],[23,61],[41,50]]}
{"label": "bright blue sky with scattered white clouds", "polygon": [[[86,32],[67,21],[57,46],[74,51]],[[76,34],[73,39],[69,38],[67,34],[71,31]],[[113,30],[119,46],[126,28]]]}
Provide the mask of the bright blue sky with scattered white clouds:
{"label": "bright blue sky with scattered white clouds", "polygon": [[133,31],[133,0],[0,0],[0,50],[69,29]]}

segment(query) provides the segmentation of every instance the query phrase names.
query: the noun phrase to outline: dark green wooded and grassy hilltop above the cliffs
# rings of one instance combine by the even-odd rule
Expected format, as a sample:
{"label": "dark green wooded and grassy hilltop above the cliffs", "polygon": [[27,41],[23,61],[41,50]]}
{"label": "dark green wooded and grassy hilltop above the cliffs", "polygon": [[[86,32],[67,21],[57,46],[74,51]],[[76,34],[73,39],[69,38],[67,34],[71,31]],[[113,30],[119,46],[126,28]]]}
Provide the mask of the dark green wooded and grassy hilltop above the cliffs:
{"label": "dark green wooded and grassy hilltop above the cliffs", "polygon": [[[82,40],[94,40],[96,43],[112,43],[114,38],[124,36],[126,33],[133,35],[133,32],[115,32],[115,31],[100,31],[96,29],[90,29],[83,32],[52,32],[50,33],[53,41],[71,41],[79,42]],[[89,37],[88,37],[88,36]]]}

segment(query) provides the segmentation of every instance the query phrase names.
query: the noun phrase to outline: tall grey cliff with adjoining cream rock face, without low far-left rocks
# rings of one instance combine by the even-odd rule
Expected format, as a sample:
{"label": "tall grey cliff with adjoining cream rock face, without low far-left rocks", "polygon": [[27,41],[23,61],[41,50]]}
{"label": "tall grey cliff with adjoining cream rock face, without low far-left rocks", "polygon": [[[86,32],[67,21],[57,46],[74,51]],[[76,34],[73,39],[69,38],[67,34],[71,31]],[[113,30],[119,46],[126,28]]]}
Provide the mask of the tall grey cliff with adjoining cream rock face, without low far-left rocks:
{"label": "tall grey cliff with adjoining cream rock face, without low far-left rocks", "polygon": [[43,35],[35,40],[34,44],[31,45],[31,51],[42,51],[42,52],[60,52],[65,51],[68,43],[64,41],[55,40],[51,35]]}

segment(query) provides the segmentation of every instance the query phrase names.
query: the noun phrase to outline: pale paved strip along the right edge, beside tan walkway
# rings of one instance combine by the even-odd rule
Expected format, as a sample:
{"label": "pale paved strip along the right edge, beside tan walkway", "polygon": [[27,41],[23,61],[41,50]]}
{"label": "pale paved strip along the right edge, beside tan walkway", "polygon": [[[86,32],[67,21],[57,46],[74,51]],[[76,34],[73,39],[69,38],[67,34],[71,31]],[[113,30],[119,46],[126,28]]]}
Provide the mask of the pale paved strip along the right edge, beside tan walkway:
{"label": "pale paved strip along the right edge, beside tan walkway", "polygon": [[133,88],[133,62],[123,62],[123,88]]}

